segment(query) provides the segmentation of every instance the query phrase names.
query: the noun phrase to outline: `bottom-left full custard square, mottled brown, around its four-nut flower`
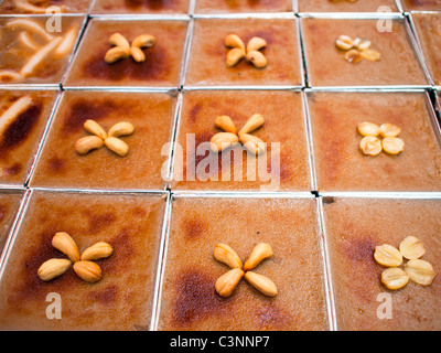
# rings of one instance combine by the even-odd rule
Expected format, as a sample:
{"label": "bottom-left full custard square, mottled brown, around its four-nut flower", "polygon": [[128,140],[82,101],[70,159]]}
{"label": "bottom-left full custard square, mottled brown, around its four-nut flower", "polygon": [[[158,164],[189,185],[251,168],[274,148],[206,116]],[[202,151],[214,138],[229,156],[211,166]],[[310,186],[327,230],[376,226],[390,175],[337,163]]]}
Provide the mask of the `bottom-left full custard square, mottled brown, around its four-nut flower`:
{"label": "bottom-left full custard square, mottled brown, around its four-nut flower", "polygon": [[[164,205],[160,194],[33,191],[1,277],[0,328],[148,330]],[[100,267],[98,281],[83,280],[72,264],[63,275],[41,279],[42,264],[68,259],[52,245],[58,232],[82,256],[99,242],[110,245],[109,257],[89,259]]]}

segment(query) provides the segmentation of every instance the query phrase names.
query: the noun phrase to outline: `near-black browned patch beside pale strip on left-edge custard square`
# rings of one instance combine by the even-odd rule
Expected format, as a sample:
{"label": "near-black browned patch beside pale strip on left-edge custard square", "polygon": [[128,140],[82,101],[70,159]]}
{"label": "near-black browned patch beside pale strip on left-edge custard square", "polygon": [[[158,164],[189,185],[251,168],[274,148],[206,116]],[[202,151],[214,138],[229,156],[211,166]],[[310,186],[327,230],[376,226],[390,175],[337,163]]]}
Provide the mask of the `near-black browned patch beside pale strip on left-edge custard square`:
{"label": "near-black browned patch beside pale strip on left-edge custard square", "polygon": [[4,157],[25,141],[39,121],[42,110],[43,105],[35,101],[8,126],[0,140],[0,156]]}

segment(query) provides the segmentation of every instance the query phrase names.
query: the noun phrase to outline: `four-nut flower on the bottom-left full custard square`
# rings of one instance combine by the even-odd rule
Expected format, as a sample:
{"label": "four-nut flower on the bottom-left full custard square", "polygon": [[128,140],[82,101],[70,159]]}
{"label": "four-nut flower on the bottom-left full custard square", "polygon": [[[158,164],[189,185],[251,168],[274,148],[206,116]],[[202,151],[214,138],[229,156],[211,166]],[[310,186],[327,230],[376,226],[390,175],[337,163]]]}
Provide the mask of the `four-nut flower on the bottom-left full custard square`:
{"label": "four-nut flower on the bottom-left full custard square", "polygon": [[37,275],[44,281],[64,275],[74,264],[74,271],[79,278],[86,282],[97,282],[101,279],[103,272],[101,268],[94,261],[107,258],[114,253],[109,244],[99,242],[85,249],[83,254],[79,254],[75,240],[65,232],[58,232],[54,235],[52,246],[66,255],[68,259],[51,258],[43,263],[37,270]]}

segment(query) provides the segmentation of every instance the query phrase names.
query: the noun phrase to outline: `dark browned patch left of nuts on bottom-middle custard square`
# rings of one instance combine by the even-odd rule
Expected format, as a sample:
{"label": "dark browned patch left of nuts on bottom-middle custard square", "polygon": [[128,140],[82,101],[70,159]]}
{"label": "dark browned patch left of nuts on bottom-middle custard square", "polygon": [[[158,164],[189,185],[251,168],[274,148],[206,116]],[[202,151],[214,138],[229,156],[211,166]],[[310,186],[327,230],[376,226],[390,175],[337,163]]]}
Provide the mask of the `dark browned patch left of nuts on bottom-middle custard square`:
{"label": "dark browned patch left of nuts on bottom-middle custard square", "polygon": [[175,278],[176,297],[172,311],[175,325],[185,328],[207,315],[219,314],[229,299],[215,292],[215,279],[200,268],[189,268]]}

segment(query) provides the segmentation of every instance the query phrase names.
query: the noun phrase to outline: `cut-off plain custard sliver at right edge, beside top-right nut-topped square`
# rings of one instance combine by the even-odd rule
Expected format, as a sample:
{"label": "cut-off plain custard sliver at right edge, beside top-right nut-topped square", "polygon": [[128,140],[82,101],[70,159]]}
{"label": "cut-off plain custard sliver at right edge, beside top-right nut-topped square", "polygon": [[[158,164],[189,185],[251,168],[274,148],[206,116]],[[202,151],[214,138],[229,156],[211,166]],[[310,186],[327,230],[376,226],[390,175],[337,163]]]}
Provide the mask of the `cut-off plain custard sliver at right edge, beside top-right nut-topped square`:
{"label": "cut-off plain custard sliver at right edge, beside top-right nut-topped square", "polygon": [[411,17],[430,76],[441,85],[441,12],[413,12]]}

